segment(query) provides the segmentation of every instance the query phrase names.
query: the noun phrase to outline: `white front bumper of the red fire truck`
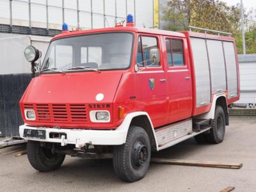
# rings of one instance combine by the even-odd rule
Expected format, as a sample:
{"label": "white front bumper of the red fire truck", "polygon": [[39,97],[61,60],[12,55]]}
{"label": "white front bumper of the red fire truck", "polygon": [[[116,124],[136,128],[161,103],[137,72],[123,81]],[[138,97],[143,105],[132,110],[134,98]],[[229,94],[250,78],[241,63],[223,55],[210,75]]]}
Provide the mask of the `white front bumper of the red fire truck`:
{"label": "white front bumper of the red fire truck", "polygon": [[[39,129],[45,130],[45,139],[25,138],[24,129]],[[50,133],[64,133],[67,135],[61,138],[50,138]],[[52,143],[61,143],[62,146],[74,144],[76,147],[83,147],[86,143],[92,145],[122,145],[125,142],[127,131],[122,129],[115,130],[84,130],[84,129],[56,129],[49,127],[30,127],[28,125],[20,125],[20,138],[33,141],[43,141]]]}

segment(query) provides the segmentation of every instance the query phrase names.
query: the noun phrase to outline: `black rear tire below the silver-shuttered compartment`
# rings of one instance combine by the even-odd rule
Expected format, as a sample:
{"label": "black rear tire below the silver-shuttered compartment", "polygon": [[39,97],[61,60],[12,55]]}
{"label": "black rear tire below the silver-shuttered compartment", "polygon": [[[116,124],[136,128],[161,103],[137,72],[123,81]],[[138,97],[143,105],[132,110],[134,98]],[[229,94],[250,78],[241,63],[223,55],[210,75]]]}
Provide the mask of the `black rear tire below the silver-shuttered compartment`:
{"label": "black rear tire below the silver-shuttered compartment", "polygon": [[221,143],[225,136],[225,113],[221,106],[216,106],[212,128],[208,134],[205,134],[206,140],[212,144]]}

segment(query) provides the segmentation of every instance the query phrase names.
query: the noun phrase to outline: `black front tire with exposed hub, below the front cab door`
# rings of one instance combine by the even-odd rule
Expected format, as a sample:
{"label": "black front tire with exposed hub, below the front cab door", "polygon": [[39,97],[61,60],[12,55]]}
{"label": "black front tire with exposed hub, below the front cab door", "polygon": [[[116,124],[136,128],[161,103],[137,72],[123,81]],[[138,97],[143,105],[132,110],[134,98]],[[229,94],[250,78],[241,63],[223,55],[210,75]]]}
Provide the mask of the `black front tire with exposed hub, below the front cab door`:
{"label": "black front tire with exposed hub, below the front cab door", "polygon": [[148,170],[151,157],[151,145],[147,132],[137,126],[131,126],[126,142],[113,149],[113,167],[116,175],[126,182],[143,178]]}

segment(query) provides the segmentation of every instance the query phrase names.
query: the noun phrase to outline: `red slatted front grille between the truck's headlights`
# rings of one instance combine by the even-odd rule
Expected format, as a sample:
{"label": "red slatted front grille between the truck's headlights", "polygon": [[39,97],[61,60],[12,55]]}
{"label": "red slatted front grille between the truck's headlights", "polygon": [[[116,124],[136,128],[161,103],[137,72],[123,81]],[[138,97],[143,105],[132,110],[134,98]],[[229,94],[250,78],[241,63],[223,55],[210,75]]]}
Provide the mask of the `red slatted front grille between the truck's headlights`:
{"label": "red slatted front grille between the truck's headlights", "polygon": [[85,104],[24,104],[35,109],[38,122],[87,122]]}

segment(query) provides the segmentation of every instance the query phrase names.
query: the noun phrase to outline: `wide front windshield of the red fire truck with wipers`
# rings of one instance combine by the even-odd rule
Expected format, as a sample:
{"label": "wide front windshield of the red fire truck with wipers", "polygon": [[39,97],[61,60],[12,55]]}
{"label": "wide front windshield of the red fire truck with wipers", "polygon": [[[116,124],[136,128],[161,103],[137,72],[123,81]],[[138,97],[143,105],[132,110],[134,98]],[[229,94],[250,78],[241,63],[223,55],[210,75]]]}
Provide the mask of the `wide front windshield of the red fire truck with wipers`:
{"label": "wide front windshield of the red fire truck with wipers", "polygon": [[131,62],[132,42],[133,35],[123,32],[54,40],[47,51],[42,70],[54,72],[86,68],[128,68]]}

